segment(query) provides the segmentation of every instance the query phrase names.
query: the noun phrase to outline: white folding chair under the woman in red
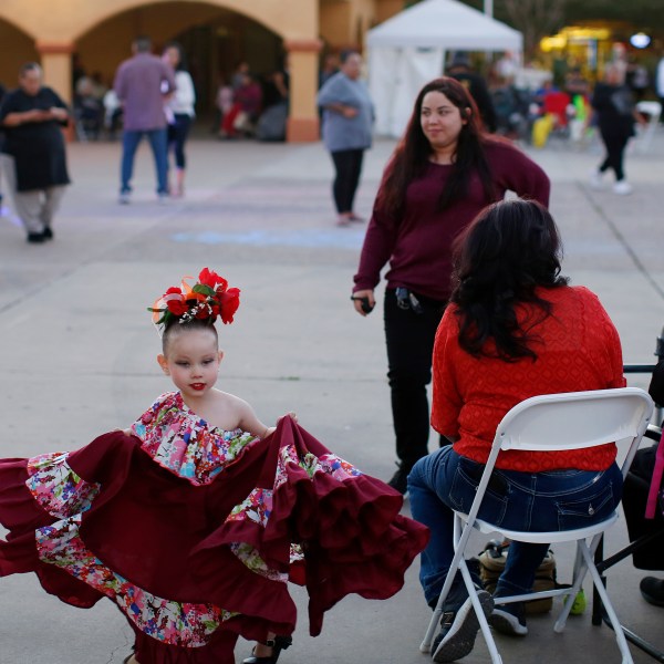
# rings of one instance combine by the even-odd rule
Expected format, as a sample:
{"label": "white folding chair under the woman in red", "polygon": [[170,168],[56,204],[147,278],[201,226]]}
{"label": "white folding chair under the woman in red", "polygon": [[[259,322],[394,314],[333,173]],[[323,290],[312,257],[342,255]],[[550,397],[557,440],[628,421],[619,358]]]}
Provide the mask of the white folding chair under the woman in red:
{"label": "white folding chair under the woman in red", "polygon": [[[521,602],[539,598],[551,598],[567,595],[562,611],[556,621],[553,630],[558,633],[564,629],[567,618],[581,583],[587,572],[590,572],[592,581],[604,603],[606,614],[615,631],[618,646],[622,653],[623,664],[632,664],[632,656],[627,647],[620,621],[611,605],[604,584],[593,562],[594,551],[604,531],[618,519],[614,511],[608,519],[600,523],[580,528],[577,530],[564,530],[554,532],[529,532],[520,530],[507,530],[494,523],[477,518],[477,512],[484,499],[485,490],[494,470],[498,454],[502,449],[529,449],[539,452],[552,452],[561,449],[580,449],[594,447],[606,443],[629,439],[629,450],[622,465],[623,478],[626,476],[632,459],[636,454],[639,443],[647,427],[653,412],[653,402],[646,392],[636,387],[622,387],[618,390],[599,390],[592,392],[569,392],[564,394],[546,394],[533,396],[517,404],[500,422],[496,429],[496,436],[491,452],[484,469],[477,495],[473,501],[468,515],[455,511],[454,546],[455,556],[452,561],[449,573],[440,591],[438,603],[432,616],[429,626],[419,650],[427,653],[430,650],[432,640],[440,615],[443,604],[456,570],[460,570],[464,583],[468,590],[473,608],[479,621],[484,637],[487,642],[491,662],[501,664],[502,660],[496,647],[491,630],[466,564],[464,552],[470,532],[474,528],[481,532],[500,532],[504,537],[520,542],[554,543],[577,542],[577,562],[574,564],[572,587],[568,589],[548,590],[529,594],[512,595],[496,600],[498,604]],[[587,541],[592,538],[590,543]]]}

